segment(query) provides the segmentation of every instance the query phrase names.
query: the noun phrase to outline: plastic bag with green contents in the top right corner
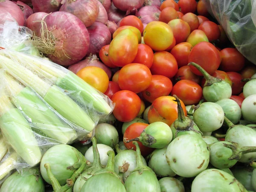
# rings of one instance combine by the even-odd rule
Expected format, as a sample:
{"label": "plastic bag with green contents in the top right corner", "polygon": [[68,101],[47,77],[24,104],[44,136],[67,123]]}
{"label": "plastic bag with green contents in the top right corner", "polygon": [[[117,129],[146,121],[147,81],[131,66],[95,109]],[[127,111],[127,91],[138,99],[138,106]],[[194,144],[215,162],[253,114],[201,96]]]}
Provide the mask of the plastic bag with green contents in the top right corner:
{"label": "plastic bag with green contents in the top right corner", "polygon": [[256,64],[256,0],[204,0],[230,41]]}

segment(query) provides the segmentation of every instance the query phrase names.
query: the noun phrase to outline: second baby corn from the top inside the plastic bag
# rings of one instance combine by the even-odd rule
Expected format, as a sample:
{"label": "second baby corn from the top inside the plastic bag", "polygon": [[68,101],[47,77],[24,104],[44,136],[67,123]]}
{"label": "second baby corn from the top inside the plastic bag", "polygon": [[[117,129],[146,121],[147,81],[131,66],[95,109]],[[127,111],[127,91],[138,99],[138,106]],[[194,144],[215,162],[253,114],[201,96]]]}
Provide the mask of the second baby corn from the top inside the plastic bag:
{"label": "second baby corn from the top inside the plastic bag", "polygon": [[[31,87],[35,90],[61,116],[84,128],[87,133],[95,128],[93,120],[76,102],[70,99],[56,85],[44,81],[44,77],[40,78],[22,64],[19,64],[24,62],[22,59],[14,62],[12,59],[0,55],[0,61],[0,67],[5,68],[12,76],[17,76],[16,79],[26,85],[26,87]],[[26,66],[26,64],[24,65]]]}

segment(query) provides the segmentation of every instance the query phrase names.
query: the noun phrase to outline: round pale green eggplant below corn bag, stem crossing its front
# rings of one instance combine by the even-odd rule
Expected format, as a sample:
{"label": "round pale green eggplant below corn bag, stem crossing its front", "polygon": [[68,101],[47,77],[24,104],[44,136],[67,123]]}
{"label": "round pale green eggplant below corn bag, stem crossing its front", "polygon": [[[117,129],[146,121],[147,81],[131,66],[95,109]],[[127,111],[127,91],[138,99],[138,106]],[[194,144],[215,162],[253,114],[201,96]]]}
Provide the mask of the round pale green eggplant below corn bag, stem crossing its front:
{"label": "round pale green eggplant below corn bag, stem crossing its front", "polygon": [[52,148],[49,148],[42,157],[40,163],[41,175],[47,183],[51,184],[46,169],[44,168],[44,164],[49,163],[52,174],[58,180],[60,185],[65,185],[66,180],[76,171],[67,169],[67,167],[73,166],[77,161],[78,158],[76,157],[73,147],[65,144],[55,145]]}

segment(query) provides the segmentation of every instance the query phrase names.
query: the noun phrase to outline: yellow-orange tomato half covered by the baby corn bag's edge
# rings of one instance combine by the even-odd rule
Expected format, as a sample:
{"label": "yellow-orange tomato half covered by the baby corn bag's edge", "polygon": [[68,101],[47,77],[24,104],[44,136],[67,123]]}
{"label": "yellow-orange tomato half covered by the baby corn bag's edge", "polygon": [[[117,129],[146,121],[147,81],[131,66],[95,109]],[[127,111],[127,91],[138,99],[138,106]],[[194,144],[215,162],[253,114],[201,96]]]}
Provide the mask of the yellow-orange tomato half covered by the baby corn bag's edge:
{"label": "yellow-orange tomato half covered by the baby corn bag's edge", "polygon": [[102,68],[84,67],[76,75],[102,93],[105,93],[108,89],[108,75]]}

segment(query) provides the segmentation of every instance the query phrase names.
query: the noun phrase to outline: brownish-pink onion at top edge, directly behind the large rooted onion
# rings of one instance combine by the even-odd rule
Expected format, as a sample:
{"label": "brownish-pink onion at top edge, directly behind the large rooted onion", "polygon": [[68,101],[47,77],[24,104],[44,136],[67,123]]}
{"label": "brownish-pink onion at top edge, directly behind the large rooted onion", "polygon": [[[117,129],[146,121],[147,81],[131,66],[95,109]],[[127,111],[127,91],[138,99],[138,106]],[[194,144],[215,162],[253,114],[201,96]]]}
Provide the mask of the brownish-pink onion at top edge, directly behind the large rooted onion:
{"label": "brownish-pink onion at top edge, directly behind the large rooted onion", "polygon": [[98,17],[98,0],[62,0],[60,11],[69,12],[78,17],[86,27],[91,26]]}

